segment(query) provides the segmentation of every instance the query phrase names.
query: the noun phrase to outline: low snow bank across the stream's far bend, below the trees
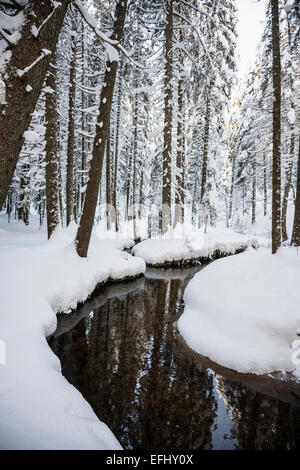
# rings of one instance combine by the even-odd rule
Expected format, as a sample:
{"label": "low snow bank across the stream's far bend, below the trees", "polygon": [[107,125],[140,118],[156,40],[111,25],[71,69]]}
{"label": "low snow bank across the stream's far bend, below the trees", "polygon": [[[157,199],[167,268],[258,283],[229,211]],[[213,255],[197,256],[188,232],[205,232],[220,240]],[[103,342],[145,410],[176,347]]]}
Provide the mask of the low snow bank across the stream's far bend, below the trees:
{"label": "low snow bank across the stream's far bend, below the trees", "polygon": [[138,243],[132,252],[143,258],[145,263],[155,266],[179,261],[212,258],[216,251],[234,254],[248,246],[266,246],[266,239],[249,237],[231,230],[210,229],[207,233],[199,230],[186,239],[149,239]]}

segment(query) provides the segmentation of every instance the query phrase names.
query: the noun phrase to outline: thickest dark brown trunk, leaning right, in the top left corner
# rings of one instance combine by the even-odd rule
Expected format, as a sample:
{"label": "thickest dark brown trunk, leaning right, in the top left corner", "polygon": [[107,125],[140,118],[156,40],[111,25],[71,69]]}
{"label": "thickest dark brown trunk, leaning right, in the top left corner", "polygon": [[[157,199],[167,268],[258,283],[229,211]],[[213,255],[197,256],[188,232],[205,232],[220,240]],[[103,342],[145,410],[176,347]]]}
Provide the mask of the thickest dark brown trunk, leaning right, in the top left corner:
{"label": "thickest dark brown trunk, leaning right, in the top left corner", "polygon": [[[51,55],[47,51],[55,50],[68,4],[69,0],[61,0],[54,10],[52,2],[29,0],[24,9],[20,40],[11,46],[9,73],[4,79],[6,103],[0,104],[0,208],[6,199],[24,143],[23,135],[29,127],[49,67]],[[41,25],[36,38],[32,34],[33,27]],[[30,92],[26,85],[31,86]]]}

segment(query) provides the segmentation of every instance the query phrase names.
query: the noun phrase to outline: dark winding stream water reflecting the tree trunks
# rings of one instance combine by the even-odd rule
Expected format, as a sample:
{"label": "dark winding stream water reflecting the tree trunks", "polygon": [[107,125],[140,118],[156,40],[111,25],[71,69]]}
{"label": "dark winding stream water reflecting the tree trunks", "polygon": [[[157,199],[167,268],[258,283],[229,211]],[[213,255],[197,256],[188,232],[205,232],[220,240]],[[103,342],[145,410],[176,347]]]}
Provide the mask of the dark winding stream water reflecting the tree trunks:
{"label": "dark winding stream water reflecting the tree trunks", "polygon": [[299,385],[222,369],[179,337],[197,270],[149,269],[59,317],[63,375],[125,449],[300,449]]}

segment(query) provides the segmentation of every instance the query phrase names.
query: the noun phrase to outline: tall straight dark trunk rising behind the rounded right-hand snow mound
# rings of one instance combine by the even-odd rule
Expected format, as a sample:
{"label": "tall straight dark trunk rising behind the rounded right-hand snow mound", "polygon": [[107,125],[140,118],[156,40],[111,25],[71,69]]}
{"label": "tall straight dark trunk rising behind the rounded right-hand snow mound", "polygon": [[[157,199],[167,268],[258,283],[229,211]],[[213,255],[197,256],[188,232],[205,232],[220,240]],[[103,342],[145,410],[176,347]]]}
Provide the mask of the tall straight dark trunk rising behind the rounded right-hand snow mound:
{"label": "tall straight dark trunk rising behind the rounded right-hand snow mound", "polygon": [[281,60],[278,0],[271,0],[273,54],[272,253],[281,244]]}

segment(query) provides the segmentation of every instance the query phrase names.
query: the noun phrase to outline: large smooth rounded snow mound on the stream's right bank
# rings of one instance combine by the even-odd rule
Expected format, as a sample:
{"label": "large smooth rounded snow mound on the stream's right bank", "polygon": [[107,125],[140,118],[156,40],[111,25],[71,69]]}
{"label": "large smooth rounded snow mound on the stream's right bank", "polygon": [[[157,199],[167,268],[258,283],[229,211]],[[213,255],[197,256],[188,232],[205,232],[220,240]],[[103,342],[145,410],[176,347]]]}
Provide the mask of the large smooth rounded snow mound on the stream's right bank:
{"label": "large smooth rounded snow mound on the stream's right bank", "polygon": [[[292,344],[300,326],[300,253],[252,248],[215,261],[188,284],[178,328],[187,344],[238,372],[300,369]],[[217,294],[217,295],[216,295]]]}

